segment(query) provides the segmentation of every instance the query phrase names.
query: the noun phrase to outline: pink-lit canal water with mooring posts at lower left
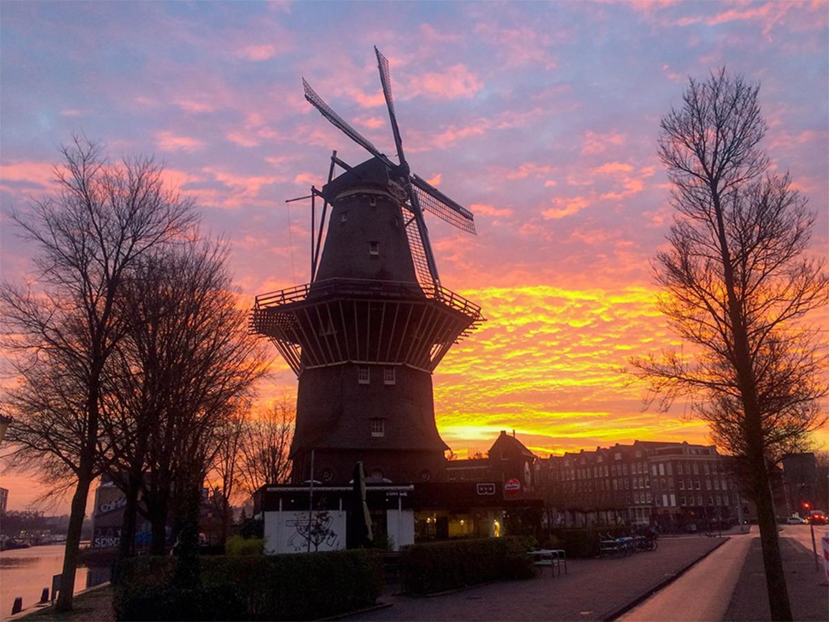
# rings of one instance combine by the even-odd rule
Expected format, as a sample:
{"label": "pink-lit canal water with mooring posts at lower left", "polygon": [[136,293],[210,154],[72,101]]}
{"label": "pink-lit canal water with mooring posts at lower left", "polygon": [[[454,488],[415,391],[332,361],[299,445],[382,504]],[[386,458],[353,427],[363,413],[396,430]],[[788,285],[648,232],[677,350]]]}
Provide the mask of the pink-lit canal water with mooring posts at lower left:
{"label": "pink-lit canal water with mooring posts at lower left", "polygon": [[[44,587],[49,588],[51,598],[51,578],[63,570],[63,549],[63,544],[49,544],[0,552],[0,620],[12,613],[16,596],[23,597],[23,609],[41,600]],[[90,585],[89,579],[102,582],[97,575],[99,572],[95,569],[79,567],[75,591],[85,590]],[[108,580],[109,577],[103,579]]]}

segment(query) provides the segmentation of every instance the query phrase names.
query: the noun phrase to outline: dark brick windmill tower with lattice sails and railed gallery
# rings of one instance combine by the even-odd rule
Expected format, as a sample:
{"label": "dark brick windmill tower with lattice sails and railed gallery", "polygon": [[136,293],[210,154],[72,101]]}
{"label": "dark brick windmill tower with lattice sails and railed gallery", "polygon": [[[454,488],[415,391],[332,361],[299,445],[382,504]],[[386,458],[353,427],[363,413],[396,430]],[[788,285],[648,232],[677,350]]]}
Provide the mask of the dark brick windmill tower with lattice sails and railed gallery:
{"label": "dark brick windmill tower with lattice sails and railed gallery", "polygon": [[295,484],[310,478],[312,450],[313,479],[324,484],[347,484],[357,460],[395,483],[443,479],[448,448],[434,421],[432,372],[483,320],[478,305],[440,284],[424,221],[429,211],[474,234],[473,214],[410,173],[388,61],[375,52],[399,163],[303,80],[305,99],[372,157],[351,167],[332,154],[327,184],[309,197],[311,282],[259,295],[253,310],[254,330],[298,377]]}

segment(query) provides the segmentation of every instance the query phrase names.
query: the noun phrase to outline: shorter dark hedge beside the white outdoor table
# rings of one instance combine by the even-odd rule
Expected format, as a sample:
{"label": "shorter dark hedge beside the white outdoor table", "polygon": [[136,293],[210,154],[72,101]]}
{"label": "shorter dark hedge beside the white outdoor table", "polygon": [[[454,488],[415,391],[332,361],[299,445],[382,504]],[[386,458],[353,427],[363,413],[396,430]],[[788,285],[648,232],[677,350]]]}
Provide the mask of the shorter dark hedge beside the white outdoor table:
{"label": "shorter dark hedge beside the white outdoor table", "polygon": [[400,582],[410,594],[432,594],[495,579],[528,579],[535,566],[524,537],[448,540],[404,547]]}

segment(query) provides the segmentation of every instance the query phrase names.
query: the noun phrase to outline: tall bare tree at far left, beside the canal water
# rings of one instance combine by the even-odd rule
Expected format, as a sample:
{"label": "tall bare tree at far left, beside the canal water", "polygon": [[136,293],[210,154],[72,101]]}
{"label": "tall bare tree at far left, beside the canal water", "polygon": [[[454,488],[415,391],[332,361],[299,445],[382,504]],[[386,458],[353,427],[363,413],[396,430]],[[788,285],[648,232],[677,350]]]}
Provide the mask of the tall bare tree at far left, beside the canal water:
{"label": "tall bare tree at far left, beside the canal water", "polygon": [[[135,262],[194,221],[151,158],[110,165],[85,138],[62,148],[58,190],[12,214],[37,248],[36,291],[3,284],[3,345],[22,383],[11,391],[12,457],[73,480],[58,610],[70,610],[86,498],[97,473],[104,367],[123,335],[114,301]],[[42,382],[48,396],[37,396]],[[46,397],[46,399],[42,399]],[[65,480],[64,480],[65,481]]]}

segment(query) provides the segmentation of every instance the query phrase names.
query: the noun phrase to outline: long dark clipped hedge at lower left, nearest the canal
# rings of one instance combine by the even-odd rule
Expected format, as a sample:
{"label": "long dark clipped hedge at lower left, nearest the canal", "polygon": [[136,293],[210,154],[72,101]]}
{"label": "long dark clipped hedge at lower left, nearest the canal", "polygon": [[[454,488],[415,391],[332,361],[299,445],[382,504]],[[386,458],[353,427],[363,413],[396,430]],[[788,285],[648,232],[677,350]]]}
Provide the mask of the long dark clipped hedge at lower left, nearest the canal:
{"label": "long dark clipped hedge at lower left, nearest the canal", "polygon": [[371,551],[202,557],[197,591],[170,585],[174,557],[123,563],[119,620],[318,620],[373,605],[383,588]]}

